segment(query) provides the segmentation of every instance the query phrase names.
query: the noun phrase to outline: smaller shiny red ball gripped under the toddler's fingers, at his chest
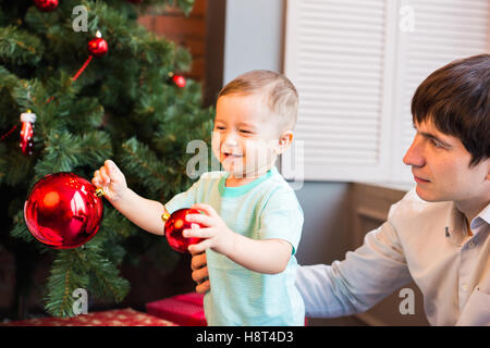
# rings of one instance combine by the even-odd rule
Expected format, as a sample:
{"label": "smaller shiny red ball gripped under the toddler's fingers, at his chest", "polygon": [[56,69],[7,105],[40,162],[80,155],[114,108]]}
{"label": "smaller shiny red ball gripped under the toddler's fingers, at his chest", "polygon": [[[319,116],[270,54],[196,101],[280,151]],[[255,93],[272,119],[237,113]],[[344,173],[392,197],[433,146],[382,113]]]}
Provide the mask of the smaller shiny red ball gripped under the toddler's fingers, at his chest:
{"label": "smaller shiny red ball gripped under the toddler's fingers, at his chest", "polygon": [[[170,247],[179,252],[188,252],[189,245],[198,244],[203,238],[186,238],[182,231],[187,228],[200,228],[201,225],[185,221],[188,214],[200,214],[196,209],[179,209],[174,211],[166,221],[166,237]],[[166,217],[163,217],[166,219]]]}

